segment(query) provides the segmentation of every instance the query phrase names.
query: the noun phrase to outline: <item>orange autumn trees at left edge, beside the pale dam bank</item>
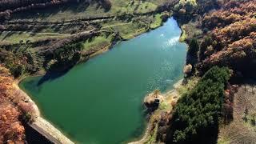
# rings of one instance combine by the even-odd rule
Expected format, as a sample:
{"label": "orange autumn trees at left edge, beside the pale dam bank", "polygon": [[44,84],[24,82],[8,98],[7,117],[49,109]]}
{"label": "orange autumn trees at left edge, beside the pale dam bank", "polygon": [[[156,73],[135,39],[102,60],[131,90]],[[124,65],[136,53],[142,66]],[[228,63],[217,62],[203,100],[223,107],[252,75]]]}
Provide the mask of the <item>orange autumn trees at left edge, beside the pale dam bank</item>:
{"label": "orange autumn trees at left edge, beside the pale dam bank", "polygon": [[9,71],[0,66],[0,143],[24,143],[25,138],[21,112],[10,102],[12,82]]}

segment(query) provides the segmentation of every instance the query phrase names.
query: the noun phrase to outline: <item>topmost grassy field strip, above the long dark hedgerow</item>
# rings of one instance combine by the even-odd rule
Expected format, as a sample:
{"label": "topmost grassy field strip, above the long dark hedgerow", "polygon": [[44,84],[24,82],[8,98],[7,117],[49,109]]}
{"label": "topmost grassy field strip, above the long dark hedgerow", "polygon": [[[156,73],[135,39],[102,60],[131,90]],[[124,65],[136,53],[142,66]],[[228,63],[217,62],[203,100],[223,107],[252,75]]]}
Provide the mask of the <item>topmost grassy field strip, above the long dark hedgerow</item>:
{"label": "topmost grassy field strip, above the long dark hedgerow", "polygon": [[73,4],[68,6],[59,6],[54,9],[46,8],[44,10],[33,10],[26,13],[14,14],[12,21],[18,19],[27,19],[30,21],[66,21],[73,20],[77,18],[92,18],[92,17],[102,17],[107,15],[118,15],[118,14],[134,14],[134,13],[147,13],[153,11],[162,2],[167,0],[146,0],[142,1],[132,1],[130,0],[110,0],[112,2],[111,10],[105,11],[98,6],[97,3],[92,3],[90,5],[83,4]]}

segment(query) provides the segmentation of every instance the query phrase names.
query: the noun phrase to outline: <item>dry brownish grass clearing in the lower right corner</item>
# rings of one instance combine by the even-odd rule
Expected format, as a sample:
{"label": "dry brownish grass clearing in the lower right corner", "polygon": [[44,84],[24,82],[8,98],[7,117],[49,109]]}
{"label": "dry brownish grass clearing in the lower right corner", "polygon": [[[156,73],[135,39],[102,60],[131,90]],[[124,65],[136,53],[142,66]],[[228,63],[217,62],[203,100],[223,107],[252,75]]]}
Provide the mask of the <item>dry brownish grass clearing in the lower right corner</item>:
{"label": "dry brownish grass clearing in the lower right corner", "polygon": [[241,86],[234,96],[234,120],[229,125],[222,125],[218,135],[218,143],[253,144],[256,143],[256,126],[243,120],[245,110],[248,116],[256,111],[256,94],[251,86]]}

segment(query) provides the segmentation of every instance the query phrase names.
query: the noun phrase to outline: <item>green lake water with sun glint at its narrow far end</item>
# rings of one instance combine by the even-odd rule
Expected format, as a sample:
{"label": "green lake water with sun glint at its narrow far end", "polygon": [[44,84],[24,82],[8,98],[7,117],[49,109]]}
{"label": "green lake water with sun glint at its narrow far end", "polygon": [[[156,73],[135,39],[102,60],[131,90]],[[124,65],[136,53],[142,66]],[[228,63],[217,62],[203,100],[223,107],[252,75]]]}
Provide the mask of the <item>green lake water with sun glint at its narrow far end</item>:
{"label": "green lake water with sun glint at its narrow far end", "polygon": [[155,89],[171,89],[182,78],[186,45],[178,42],[180,34],[170,18],[62,77],[40,85],[42,77],[26,78],[20,86],[43,116],[75,142],[127,142],[145,129],[144,96]]}

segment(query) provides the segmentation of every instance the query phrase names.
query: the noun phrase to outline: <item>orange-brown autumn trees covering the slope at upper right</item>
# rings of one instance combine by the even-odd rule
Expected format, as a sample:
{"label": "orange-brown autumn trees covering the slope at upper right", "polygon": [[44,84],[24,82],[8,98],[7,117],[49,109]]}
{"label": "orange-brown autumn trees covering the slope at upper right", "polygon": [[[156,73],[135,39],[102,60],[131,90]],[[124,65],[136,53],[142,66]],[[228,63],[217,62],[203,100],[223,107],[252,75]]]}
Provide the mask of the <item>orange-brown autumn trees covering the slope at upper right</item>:
{"label": "orange-brown autumn trees covering the slope at upper right", "polygon": [[[227,2],[222,10],[207,14],[202,19],[207,31],[201,45],[202,71],[210,66],[229,66],[236,71],[250,71],[256,64],[256,0]],[[247,68],[245,67],[247,66]]]}

